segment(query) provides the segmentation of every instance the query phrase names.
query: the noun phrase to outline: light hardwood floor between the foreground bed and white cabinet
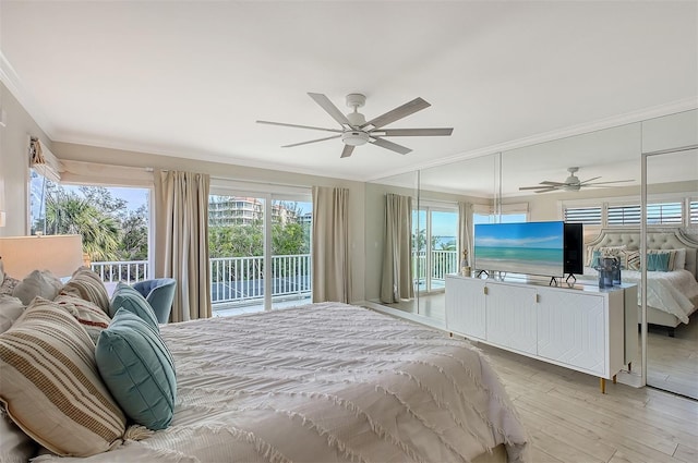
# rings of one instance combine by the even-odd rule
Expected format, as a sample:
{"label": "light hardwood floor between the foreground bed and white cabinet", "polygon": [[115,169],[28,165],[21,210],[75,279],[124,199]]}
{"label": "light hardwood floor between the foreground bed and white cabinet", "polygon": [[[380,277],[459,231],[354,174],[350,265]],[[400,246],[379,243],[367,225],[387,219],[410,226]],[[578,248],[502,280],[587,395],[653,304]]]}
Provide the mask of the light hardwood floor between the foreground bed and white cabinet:
{"label": "light hardwood floor between the foreground bed and white cabinet", "polygon": [[531,438],[530,461],[696,462],[698,402],[616,383],[477,344],[498,373]]}

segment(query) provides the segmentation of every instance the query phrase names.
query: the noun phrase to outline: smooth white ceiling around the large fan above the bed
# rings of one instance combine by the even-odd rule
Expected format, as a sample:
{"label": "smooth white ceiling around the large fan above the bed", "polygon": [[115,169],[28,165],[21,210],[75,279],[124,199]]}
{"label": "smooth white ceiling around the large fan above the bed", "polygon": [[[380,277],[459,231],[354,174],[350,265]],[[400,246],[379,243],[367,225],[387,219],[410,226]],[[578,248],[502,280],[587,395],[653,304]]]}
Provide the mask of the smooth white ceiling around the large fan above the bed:
{"label": "smooth white ceiling around the large fan above the bed", "polygon": [[[58,142],[369,181],[698,101],[696,1],[0,1],[0,76]],[[329,134],[255,120],[338,127],[309,92],[454,133],[280,148]]]}

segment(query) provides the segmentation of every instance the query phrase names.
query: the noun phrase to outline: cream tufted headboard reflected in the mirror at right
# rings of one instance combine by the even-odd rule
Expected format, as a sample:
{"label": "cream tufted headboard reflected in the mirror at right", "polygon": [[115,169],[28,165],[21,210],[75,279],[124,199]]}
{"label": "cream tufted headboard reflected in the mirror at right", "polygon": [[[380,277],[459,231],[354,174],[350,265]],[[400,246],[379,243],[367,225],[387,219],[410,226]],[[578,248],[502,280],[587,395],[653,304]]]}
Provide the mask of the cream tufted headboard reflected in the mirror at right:
{"label": "cream tufted headboard reflected in the mirror at right", "polygon": [[[605,246],[626,245],[628,249],[639,249],[640,229],[602,229],[599,235],[588,243],[587,249],[598,249]],[[686,270],[698,279],[698,236],[689,234],[684,229],[652,230],[647,232],[648,249],[681,249],[686,248]]]}

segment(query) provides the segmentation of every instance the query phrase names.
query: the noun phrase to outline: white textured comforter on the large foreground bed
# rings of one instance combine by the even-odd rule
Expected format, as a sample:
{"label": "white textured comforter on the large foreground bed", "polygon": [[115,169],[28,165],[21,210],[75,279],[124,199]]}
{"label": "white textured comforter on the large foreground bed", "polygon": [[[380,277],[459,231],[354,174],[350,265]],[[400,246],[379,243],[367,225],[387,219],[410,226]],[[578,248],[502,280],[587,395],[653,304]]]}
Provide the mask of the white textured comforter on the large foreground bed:
{"label": "white textured comforter on the large foreground bed", "polygon": [[443,332],[336,303],[161,332],[177,366],[172,426],[61,462],[468,462],[501,442],[524,461],[496,374]]}

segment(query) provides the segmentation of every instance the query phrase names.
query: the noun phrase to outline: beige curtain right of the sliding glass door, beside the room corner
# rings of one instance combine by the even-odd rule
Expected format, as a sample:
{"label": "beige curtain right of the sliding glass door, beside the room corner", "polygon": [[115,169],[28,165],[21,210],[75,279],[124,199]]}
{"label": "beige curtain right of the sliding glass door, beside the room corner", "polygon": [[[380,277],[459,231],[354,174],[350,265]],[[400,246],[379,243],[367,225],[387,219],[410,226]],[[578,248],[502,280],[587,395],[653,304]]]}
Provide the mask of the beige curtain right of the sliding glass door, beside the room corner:
{"label": "beige curtain right of the sliding glass door, beside the room corner", "polygon": [[349,303],[349,190],[313,186],[313,302]]}

